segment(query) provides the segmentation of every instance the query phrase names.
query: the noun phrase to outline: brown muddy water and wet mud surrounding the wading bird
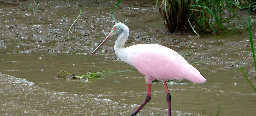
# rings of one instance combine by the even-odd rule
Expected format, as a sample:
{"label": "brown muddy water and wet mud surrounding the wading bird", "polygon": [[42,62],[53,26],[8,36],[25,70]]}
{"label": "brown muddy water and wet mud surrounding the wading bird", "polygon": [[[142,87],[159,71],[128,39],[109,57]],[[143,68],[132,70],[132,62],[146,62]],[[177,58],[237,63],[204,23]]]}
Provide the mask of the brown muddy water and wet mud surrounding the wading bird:
{"label": "brown muddy water and wet mud surrounding the wading bird", "polygon": [[[145,78],[138,71],[105,79],[54,79],[61,70],[81,75],[135,69],[116,57],[113,39],[90,56],[114,25],[110,12],[117,1],[35,2],[39,5],[0,2],[1,115],[130,115],[146,97]],[[47,8],[49,4],[53,5]],[[221,101],[219,115],[255,115],[256,94],[240,69],[255,83],[248,31],[200,39],[169,34],[159,13],[153,15],[154,4],[154,0],[119,4],[115,17],[120,22],[125,14],[124,23],[130,30],[126,46],[161,44],[181,54],[191,46],[198,50],[185,57],[189,62],[207,58],[193,64],[207,79],[205,84],[169,83],[172,114],[204,115],[203,108],[206,115],[216,115]],[[38,11],[30,11],[29,5]],[[66,37],[80,10],[81,16]],[[248,14],[240,13],[246,22]],[[256,18],[255,14],[251,17]],[[256,43],[255,28],[252,31]],[[167,115],[165,97],[163,84],[152,84],[152,99],[138,115]]]}

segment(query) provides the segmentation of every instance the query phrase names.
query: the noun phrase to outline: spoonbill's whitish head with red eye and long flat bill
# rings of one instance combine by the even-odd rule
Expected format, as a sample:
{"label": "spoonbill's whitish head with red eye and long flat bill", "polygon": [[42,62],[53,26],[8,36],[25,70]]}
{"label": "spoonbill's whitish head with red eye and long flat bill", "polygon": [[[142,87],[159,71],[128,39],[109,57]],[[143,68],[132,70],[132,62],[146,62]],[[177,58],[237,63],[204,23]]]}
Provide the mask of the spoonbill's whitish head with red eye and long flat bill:
{"label": "spoonbill's whitish head with red eye and long flat bill", "polygon": [[99,46],[93,51],[93,53],[91,54],[91,56],[93,56],[97,51],[98,51],[98,49],[109,39],[109,38],[111,38],[111,37],[113,37],[113,36],[116,36],[116,35],[120,35],[122,32],[127,32],[128,34],[129,34],[129,29],[128,29],[128,27],[125,25],[125,24],[123,24],[123,23],[121,23],[121,22],[119,22],[119,23],[116,23],[114,26],[113,26],[113,28],[111,29],[111,31],[109,32],[109,35],[102,41],[102,43],[101,44],[99,44]]}

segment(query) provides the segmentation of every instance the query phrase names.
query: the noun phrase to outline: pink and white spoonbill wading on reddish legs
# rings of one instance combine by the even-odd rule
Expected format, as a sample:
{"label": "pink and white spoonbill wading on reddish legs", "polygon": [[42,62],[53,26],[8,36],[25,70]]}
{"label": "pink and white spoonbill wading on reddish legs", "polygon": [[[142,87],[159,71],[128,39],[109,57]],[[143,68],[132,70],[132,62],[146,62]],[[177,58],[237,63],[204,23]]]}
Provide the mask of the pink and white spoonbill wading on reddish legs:
{"label": "pink and white spoonbill wading on reddish legs", "polygon": [[200,84],[206,81],[200,72],[190,65],[181,55],[174,50],[158,44],[137,44],[130,47],[124,47],[129,36],[129,28],[123,23],[117,23],[113,26],[109,35],[93,51],[93,56],[97,50],[111,37],[118,36],[115,41],[115,54],[118,57],[134,66],[140,73],[145,75],[147,81],[147,97],[145,101],[131,114],[136,115],[145,104],[151,99],[151,82],[155,79],[163,81],[166,90],[166,99],[168,105],[168,116],[171,116],[171,95],[168,90],[166,80],[188,79],[194,83]]}

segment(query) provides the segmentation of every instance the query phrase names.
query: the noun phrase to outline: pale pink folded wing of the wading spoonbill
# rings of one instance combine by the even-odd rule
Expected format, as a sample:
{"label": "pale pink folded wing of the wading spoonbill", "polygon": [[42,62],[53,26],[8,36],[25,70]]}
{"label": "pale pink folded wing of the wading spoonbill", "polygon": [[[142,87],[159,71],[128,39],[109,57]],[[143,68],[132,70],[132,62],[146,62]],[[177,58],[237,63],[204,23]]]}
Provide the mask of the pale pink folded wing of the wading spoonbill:
{"label": "pale pink folded wing of the wading spoonbill", "polygon": [[[154,79],[162,81],[177,79],[181,81],[184,78],[194,83],[204,83],[206,81],[200,72],[187,63],[181,55],[170,48],[164,47],[164,49],[165,53],[147,50],[147,52],[135,52],[130,55],[131,62],[135,68],[146,78],[151,78],[147,79],[147,81]],[[151,81],[147,83],[151,83]]]}

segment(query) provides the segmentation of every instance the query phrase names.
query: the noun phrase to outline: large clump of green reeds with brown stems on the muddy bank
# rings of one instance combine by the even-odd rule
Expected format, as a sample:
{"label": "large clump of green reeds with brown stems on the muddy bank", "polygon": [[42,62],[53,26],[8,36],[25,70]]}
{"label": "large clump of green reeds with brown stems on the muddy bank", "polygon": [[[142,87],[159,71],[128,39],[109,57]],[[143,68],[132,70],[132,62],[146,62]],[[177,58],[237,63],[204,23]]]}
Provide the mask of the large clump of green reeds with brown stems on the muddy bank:
{"label": "large clump of green reeds with brown stems on the muddy bank", "polygon": [[[245,0],[163,0],[159,12],[169,32],[193,29],[195,33],[200,30],[206,33],[225,32],[229,35],[230,29],[241,33],[237,27],[248,28],[233,8],[248,8],[245,4],[248,4]],[[239,21],[240,25],[235,26],[232,19]]]}

